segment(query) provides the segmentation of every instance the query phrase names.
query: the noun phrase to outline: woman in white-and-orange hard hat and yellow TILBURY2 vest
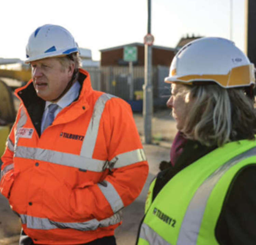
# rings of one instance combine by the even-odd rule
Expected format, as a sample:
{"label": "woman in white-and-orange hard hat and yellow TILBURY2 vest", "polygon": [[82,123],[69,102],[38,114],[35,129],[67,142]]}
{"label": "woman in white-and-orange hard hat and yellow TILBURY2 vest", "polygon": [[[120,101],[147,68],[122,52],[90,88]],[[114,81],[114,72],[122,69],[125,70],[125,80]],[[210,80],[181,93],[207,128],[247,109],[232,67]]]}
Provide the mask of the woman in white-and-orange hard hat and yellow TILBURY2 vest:
{"label": "woman in white-and-orange hard hat and yellow TILBURY2 vest", "polygon": [[254,65],[202,38],[174,57],[171,164],[151,183],[138,245],[256,244]]}

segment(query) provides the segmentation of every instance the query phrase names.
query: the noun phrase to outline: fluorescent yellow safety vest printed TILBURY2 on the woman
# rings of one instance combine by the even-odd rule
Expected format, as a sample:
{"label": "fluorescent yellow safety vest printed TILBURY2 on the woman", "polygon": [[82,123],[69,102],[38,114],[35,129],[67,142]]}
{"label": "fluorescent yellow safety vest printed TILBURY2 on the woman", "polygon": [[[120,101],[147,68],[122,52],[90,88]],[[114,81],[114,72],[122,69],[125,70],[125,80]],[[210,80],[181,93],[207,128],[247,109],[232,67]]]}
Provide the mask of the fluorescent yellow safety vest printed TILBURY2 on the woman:
{"label": "fluorescent yellow safety vest printed TILBURY2 on the woman", "polygon": [[240,169],[256,163],[256,141],[230,142],[177,173],[145,205],[138,245],[213,245],[228,188]]}

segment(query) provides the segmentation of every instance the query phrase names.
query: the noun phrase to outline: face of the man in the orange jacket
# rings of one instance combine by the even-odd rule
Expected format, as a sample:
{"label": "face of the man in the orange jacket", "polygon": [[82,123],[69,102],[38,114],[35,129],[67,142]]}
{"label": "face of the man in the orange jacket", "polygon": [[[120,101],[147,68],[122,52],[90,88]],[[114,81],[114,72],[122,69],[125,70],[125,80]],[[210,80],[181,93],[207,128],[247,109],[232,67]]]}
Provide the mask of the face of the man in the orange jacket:
{"label": "face of the man in the orange jacket", "polygon": [[37,95],[45,101],[55,101],[67,87],[73,68],[62,67],[56,58],[36,60],[30,64]]}

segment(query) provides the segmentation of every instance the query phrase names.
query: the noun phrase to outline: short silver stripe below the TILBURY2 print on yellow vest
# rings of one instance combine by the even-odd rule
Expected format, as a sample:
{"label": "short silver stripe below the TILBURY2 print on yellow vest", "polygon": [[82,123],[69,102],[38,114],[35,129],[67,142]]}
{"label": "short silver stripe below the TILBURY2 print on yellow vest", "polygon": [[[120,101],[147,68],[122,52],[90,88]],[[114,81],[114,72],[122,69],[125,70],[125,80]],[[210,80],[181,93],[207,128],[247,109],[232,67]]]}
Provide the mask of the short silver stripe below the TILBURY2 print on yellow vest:
{"label": "short silver stripe below the TILBURY2 print on yellow vest", "polygon": [[[141,225],[140,238],[146,240],[150,245],[171,245],[145,223]],[[186,244],[184,243],[183,245]]]}

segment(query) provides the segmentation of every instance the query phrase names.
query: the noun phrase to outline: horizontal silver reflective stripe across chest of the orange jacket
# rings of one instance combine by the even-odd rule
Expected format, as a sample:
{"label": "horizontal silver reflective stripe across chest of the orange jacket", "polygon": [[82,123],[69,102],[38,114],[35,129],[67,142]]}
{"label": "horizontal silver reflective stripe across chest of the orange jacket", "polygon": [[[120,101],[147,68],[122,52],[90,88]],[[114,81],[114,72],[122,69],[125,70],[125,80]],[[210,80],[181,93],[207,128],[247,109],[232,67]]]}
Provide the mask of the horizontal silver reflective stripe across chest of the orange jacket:
{"label": "horizontal silver reflective stripe across chest of the orange jacket", "polygon": [[83,156],[63,153],[59,151],[46,150],[41,148],[30,148],[19,146],[14,153],[15,157],[41,160],[59,165],[86,169],[89,171],[102,172],[105,164],[103,160],[86,158]]}

